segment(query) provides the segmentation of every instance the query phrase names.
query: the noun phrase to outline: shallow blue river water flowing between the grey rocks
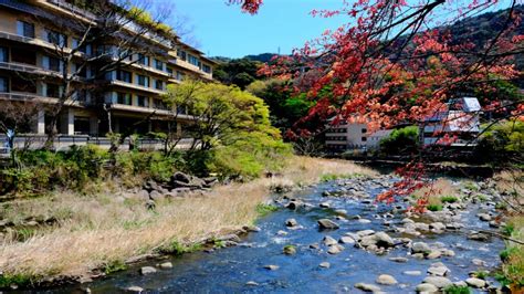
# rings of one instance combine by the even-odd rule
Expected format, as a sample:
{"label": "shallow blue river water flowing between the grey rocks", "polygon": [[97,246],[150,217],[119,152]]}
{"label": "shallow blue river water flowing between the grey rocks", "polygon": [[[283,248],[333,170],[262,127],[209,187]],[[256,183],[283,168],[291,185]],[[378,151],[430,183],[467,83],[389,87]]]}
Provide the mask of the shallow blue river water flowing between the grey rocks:
{"label": "shallow blue river water flowing between the grey rocks", "polygon": [[[467,240],[465,231],[471,229],[488,229],[486,222],[480,222],[475,217],[476,209],[470,209],[461,214],[465,225],[460,232],[446,232],[443,234],[425,234],[411,237],[413,241],[423,241],[429,244],[442,242],[446,248],[454,251],[454,256],[442,256],[437,260],[418,260],[409,256],[409,249],[397,246],[388,254],[376,255],[350,244],[344,244],[345,250],[336,255],[326,252],[322,240],[331,235],[338,240],[346,232],[371,229],[387,231],[382,224],[384,219],[375,219],[375,214],[390,211],[391,206],[363,203],[356,199],[325,198],[322,192],[333,189],[334,183],[324,183],[295,193],[294,197],[311,203],[311,208],[301,208],[296,211],[285,208],[280,209],[256,223],[260,232],[248,234],[238,246],[216,250],[213,252],[197,252],[171,258],[174,267],[158,270],[157,273],[143,276],[138,273],[139,266],[155,265],[157,262],[140,264],[128,271],[116,273],[104,280],[95,281],[82,286],[75,285],[59,288],[52,292],[70,293],[78,288],[88,287],[92,293],[123,292],[129,286],[139,286],[147,293],[331,293],[350,292],[359,293],[355,284],[359,282],[376,284],[379,274],[389,274],[398,281],[396,285],[379,285],[387,293],[413,293],[416,285],[427,276],[431,263],[442,262],[451,271],[448,276],[452,282],[464,281],[468,274],[480,269],[492,270],[500,265],[499,252],[504,248],[502,241],[492,239],[489,242]],[[378,189],[368,190],[371,196]],[[319,208],[318,204],[328,200],[329,209]],[[357,220],[336,221],[340,229],[332,231],[318,230],[317,220],[321,218],[335,219],[336,209],[347,210],[348,216],[358,214],[371,223],[360,223]],[[298,230],[289,230],[285,220],[294,218],[302,225]],[[395,214],[391,225],[399,223],[405,218],[402,213]],[[279,235],[284,230],[286,235]],[[397,238],[398,233],[388,232]],[[321,243],[319,249],[310,249],[310,244]],[[296,245],[297,253],[284,255],[282,250],[286,244]],[[406,263],[388,260],[394,256],[408,258]],[[473,259],[486,262],[484,267],[472,263]],[[319,263],[328,262],[329,269],[319,267]],[[264,269],[264,265],[280,266],[275,271]],[[420,271],[421,275],[404,274],[405,271]],[[255,282],[256,285],[248,285]],[[491,281],[494,283],[493,281]]]}

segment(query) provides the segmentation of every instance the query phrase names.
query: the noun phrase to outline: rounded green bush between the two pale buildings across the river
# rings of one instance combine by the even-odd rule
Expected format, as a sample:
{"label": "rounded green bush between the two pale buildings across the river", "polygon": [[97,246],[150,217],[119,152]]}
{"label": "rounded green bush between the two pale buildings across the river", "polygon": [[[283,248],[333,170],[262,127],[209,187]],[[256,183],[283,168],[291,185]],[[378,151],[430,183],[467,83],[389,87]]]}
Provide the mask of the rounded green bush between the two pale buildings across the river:
{"label": "rounded green bush between the two pale buildings across the river", "polygon": [[418,150],[419,128],[408,126],[395,129],[387,138],[380,140],[380,151],[386,155],[407,155]]}

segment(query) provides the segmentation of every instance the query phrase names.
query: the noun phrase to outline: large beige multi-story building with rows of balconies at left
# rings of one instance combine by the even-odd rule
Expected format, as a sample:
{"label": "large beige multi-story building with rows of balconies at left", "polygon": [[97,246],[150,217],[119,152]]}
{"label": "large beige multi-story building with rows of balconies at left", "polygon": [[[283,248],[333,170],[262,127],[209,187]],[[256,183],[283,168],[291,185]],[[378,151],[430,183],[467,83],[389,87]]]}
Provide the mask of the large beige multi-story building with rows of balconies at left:
{"label": "large beige multi-story building with rows of balconies at left", "polygon": [[[49,132],[49,112],[65,91],[64,66],[77,73],[71,83],[77,90],[64,104],[56,132],[70,136],[104,136],[109,127],[117,133],[129,127],[136,133],[163,130],[175,119],[161,99],[167,85],[186,77],[212,81],[213,61],[175,34],[154,31],[137,36],[151,48],[147,51],[151,54],[129,53],[115,62],[120,48],[107,38],[106,42],[84,44],[64,64],[56,56],[57,46],[62,52],[77,49],[83,32],[69,34],[74,30],[66,30],[66,22],[57,20],[96,22],[99,15],[94,13],[64,0],[0,0],[0,104],[23,101],[39,105],[38,117],[24,133]],[[136,22],[125,25],[129,38],[140,28]],[[107,59],[99,59],[99,52],[107,52]],[[86,62],[97,54],[92,63]],[[118,66],[101,74],[108,62]],[[188,118],[184,109],[178,111],[178,132]]]}

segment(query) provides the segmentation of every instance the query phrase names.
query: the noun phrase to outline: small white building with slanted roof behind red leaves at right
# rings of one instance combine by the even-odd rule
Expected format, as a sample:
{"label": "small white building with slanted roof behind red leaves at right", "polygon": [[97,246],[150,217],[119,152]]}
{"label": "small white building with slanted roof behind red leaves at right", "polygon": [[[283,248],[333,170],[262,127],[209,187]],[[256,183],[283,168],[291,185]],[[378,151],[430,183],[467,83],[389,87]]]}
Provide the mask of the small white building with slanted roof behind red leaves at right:
{"label": "small white building with slanted roof behind red leaves at right", "polygon": [[474,145],[480,133],[480,111],[475,97],[451,99],[425,119],[421,126],[423,145]]}

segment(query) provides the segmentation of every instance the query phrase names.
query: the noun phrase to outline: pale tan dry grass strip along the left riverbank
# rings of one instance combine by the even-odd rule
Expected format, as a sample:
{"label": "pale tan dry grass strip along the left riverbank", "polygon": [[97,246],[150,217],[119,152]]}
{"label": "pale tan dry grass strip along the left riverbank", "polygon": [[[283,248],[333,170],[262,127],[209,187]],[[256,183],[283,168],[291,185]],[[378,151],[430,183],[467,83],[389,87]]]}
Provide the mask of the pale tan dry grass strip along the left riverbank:
{"label": "pale tan dry grass strip along the left riverbank", "polygon": [[9,235],[0,241],[0,269],[10,275],[83,275],[105,264],[150,253],[175,241],[192,243],[237,229],[258,218],[256,206],[268,200],[269,187],[312,183],[324,174],[373,174],[343,160],[294,157],[279,179],[221,186],[206,196],[164,200],[155,211],[143,201],[108,193],[86,197],[67,192],[11,203],[4,218],[56,217],[59,225],[41,230],[24,242]]}

